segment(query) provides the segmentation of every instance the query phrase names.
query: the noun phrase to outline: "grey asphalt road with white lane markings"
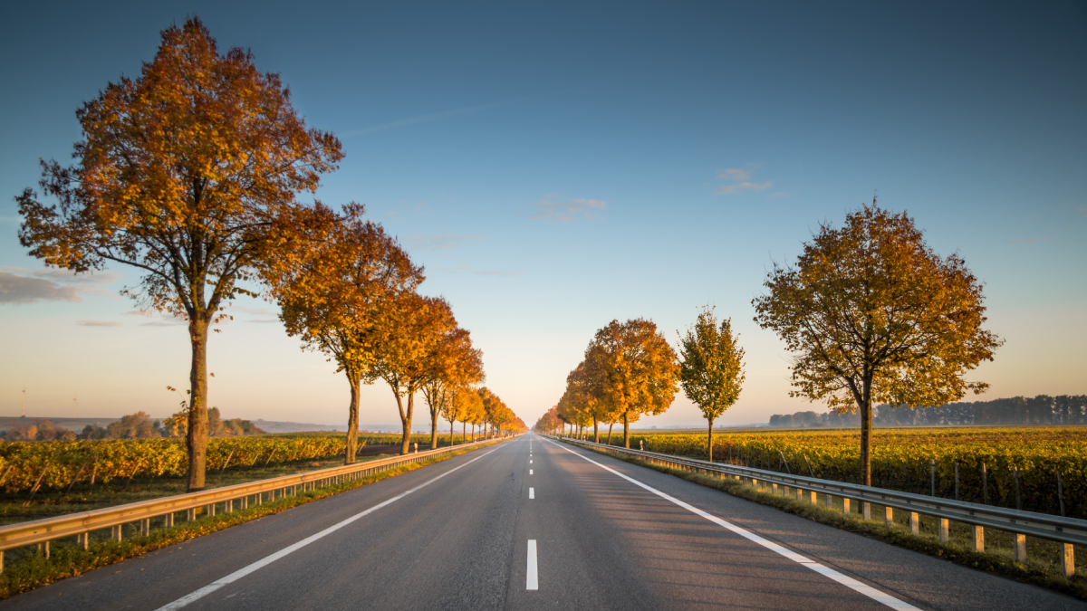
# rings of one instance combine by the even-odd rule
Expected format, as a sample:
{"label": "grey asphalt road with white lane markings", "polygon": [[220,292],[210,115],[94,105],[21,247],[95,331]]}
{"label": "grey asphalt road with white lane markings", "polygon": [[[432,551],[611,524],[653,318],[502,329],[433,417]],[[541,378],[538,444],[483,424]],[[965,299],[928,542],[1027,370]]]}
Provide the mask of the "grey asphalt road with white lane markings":
{"label": "grey asphalt road with white lane markings", "polygon": [[1085,609],[527,435],[7,609]]}

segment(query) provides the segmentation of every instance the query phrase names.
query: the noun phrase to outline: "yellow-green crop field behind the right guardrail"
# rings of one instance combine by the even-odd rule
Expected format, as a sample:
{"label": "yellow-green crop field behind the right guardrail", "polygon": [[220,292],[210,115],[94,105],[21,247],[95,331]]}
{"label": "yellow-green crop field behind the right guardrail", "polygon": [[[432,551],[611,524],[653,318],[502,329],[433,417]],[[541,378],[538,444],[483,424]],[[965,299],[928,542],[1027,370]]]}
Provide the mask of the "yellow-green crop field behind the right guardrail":
{"label": "yellow-green crop field behind the right guardrail", "polygon": [[[713,459],[859,483],[860,436],[857,428],[714,431]],[[630,439],[632,448],[644,441],[649,451],[707,457],[705,431],[640,431]],[[622,445],[622,433],[611,444]],[[1087,427],[877,428],[872,485],[1087,519]]]}

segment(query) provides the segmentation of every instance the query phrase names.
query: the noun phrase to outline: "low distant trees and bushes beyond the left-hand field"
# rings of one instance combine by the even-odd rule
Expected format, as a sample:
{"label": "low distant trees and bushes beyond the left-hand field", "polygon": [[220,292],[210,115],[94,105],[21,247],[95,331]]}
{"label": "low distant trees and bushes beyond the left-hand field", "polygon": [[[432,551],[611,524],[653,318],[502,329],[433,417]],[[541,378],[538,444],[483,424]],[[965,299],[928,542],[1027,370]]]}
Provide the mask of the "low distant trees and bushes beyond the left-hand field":
{"label": "low distant trees and bushes beyond the left-hand field", "polygon": [[[13,420],[8,423],[8,431],[0,432],[2,441],[53,441],[72,439],[153,439],[157,437],[184,437],[185,414],[174,414],[165,421],[152,420],[147,412],[136,412],[122,416],[104,427],[88,424],[83,433],[76,434],[48,420],[21,422]],[[261,428],[252,422],[235,417],[223,420],[218,408],[208,410],[208,423],[212,437],[242,437],[261,435]]]}

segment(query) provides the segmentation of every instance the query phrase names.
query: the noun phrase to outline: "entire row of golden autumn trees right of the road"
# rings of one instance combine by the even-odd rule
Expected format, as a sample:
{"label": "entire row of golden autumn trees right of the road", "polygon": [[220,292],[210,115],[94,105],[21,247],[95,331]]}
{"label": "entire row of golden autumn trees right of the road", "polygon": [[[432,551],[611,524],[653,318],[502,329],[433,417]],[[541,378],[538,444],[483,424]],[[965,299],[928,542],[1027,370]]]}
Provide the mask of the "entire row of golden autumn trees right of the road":
{"label": "entire row of golden autumn trees right of the road", "polygon": [[[789,395],[824,401],[836,413],[859,412],[865,485],[872,484],[873,407],[915,410],[980,394],[988,385],[965,375],[991,361],[1003,342],[983,328],[983,283],[965,261],[935,253],[913,219],[879,208],[875,199],[847,214],[840,228],[821,225],[795,264],[774,264],[764,286],[767,292],[752,300],[754,321],[794,354]],[[651,324],[613,322],[598,332],[585,361],[567,376],[563,399],[537,429],[587,422],[596,428],[598,421],[617,419],[625,429],[632,414],[666,409],[666,389],[678,376],[711,423],[712,448],[712,421],[736,401],[744,379],[744,352],[729,321],[719,326],[712,311],[703,310],[680,339],[678,373],[663,338],[652,348],[633,339],[636,328]],[[634,399],[619,402],[627,397]],[[628,435],[624,441],[629,447]]]}

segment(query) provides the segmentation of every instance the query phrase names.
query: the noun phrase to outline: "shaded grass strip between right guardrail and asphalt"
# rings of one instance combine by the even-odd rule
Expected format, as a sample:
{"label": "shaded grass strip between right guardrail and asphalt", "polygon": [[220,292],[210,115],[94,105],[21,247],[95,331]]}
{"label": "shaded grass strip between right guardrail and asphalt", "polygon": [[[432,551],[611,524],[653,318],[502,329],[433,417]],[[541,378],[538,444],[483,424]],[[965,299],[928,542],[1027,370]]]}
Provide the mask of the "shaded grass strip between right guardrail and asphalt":
{"label": "shaded grass strip between right guardrail and asphalt", "polygon": [[[887,544],[911,549],[913,551],[934,556],[936,558],[942,558],[963,566],[1010,577],[1017,582],[1041,586],[1066,594],[1079,600],[1087,600],[1087,577],[1083,575],[1083,571],[1077,571],[1072,577],[1065,577],[1060,571],[1060,565],[1047,562],[1044,559],[1033,558],[1029,554],[1027,557],[1027,562],[1015,562],[1010,548],[1007,550],[987,549],[984,552],[979,552],[969,547],[965,537],[959,537],[958,539],[953,537],[951,541],[945,544],[939,540],[939,537],[935,533],[932,532],[924,532],[923,529],[920,535],[914,535],[910,532],[909,527],[903,524],[896,523],[894,526],[888,526],[883,521],[877,522],[874,520],[864,520],[858,514],[845,514],[840,510],[835,511],[827,509],[824,506],[798,501],[788,497],[774,496],[766,491],[752,488],[746,483],[730,477],[716,477],[692,471],[672,469],[651,464],[639,459],[624,457],[622,454],[613,454],[611,452],[597,450],[596,448],[587,449],[636,464],[638,466],[645,466],[647,469],[660,471],[661,473],[667,473],[669,475],[674,475],[708,488],[715,488],[734,497],[770,506],[787,513],[792,513],[801,518],[807,518],[808,520],[834,526],[841,531],[857,533],[872,539],[877,539]],[[882,509],[880,506],[873,504],[873,515],[877,514],[875,511],[877,507]],[[986,528],[987,545],[991,545],[990,541],[994,539],[999,540],[1000,533],[1002,532]],[[1009,534],[1004,535],[1010,537]],[[1030,541],[1032,539],[1032,537],[1028,537],[1027,540]],[[1080,558],[1083,557],[1080,556]]]}

